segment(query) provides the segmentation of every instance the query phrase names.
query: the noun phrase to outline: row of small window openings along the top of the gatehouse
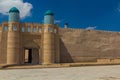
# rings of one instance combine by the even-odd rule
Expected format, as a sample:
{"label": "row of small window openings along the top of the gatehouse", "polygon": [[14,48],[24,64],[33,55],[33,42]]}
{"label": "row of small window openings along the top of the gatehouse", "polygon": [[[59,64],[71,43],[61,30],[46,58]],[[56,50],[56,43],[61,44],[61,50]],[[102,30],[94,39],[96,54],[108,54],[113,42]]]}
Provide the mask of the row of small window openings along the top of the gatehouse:
{"label": "row of small window openings along the top of the gatehouse", "polygon": [[[43,32],[53,32],[53,33],[58,33],[58,26],[57,25],[47,25],[47,27],[44,27],[43,24],[38,24],[38,23],[19,23],[20,27],[16,27],[18,23],[11,23],[12,29],[11,31],[19,30],[22,34],[24,33],[43,33]],[[8,31],[8,22],[3,22],[1,24],[1,30],[3,32]],[[18,29],[19,28],[19,29]]]}

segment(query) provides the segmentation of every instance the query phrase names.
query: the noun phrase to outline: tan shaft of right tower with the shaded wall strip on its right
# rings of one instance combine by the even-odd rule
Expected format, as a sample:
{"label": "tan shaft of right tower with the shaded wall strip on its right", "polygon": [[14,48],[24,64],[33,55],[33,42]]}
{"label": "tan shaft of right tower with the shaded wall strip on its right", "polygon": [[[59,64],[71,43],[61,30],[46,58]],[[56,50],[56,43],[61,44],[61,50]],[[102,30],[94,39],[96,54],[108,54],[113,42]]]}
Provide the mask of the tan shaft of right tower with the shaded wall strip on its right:
{"label": "tan shaft of right tower with the shaded wall strip on its right", "polygon": [[57,63],[59,62],[59,38],[57,37],[57,26],[44,24],[43,27],[42,64]]}

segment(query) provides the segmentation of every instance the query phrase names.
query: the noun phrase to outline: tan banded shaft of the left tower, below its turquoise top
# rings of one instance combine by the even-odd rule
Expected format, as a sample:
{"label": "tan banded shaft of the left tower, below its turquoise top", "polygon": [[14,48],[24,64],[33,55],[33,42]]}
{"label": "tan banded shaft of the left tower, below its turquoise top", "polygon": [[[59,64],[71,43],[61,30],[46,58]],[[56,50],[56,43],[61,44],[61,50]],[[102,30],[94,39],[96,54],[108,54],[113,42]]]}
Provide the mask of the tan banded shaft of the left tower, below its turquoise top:
{"label": "tan banded shaft of the left tower, below its turquoise top", "polygon": [[19,23],[8,23],[7,64],[20,64],[20,26]]}

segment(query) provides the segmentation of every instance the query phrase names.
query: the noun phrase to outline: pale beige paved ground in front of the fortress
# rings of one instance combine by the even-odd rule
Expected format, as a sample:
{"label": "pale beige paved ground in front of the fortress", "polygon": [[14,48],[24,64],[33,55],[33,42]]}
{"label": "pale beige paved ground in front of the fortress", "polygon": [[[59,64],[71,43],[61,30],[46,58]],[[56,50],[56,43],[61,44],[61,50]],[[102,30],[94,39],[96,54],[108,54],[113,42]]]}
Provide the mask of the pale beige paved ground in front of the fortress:
{"label": "pale beige paved ground in front of the fortress", "polygon": [[0,70],[0,80],[120,80],[120,65]]}

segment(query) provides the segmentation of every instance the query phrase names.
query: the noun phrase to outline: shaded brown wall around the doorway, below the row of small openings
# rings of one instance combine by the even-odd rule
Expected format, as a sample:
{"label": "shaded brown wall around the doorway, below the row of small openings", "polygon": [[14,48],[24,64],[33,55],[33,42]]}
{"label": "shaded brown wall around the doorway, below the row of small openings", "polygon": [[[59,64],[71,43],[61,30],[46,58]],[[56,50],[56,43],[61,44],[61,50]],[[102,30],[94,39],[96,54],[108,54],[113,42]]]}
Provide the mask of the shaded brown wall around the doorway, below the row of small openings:
{"label": "shaded brown wall around the doorway, below the row of small openings", "polygon": [[33,61],[32,64],[38,64],[41,63],[41,35],[35,35],[35,34],[29,34],[29,33],[23,33],[22,34],[22,43],[21,43],[21,64],[24,64],[24,50],[26,48],[32,49],[32,56]]}

